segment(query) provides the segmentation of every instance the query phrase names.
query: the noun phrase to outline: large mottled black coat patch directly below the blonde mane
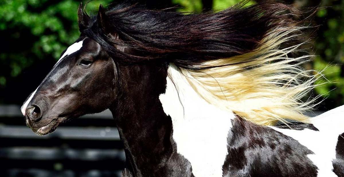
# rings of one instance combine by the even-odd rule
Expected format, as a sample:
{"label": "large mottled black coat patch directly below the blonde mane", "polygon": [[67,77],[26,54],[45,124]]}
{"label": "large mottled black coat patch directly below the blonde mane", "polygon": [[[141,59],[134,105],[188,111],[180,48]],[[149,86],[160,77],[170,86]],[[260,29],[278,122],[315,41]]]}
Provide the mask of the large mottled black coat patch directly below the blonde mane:
{"label": "large mottled black coat patch directly below the blonde mane", "polygon": [[315,177],[312,151],[297,140],[241,118],[228,133],[224,177]]}

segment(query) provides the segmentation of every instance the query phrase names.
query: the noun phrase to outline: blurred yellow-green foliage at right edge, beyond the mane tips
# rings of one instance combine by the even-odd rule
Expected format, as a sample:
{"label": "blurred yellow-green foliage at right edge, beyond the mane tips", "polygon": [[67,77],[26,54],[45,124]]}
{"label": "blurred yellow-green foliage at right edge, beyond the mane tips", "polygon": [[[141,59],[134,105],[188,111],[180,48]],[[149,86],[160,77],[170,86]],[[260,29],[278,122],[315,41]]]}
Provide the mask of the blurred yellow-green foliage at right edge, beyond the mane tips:
{"label": "blurred yellow-green foliage at right edge, beyond the mane tips", "polygon": [[[316,20],[322,22],[319,35],[315,41],[315,54],[318,55],[313,62],[315,70],[321,71],[330,81],[320,80],[318,84],[326,83],[315,89],[329,99],[342,99],[344,95],[344,1],[326,1],[325,8],[317,12]],[[330,64],[329,64],[330,63]],[[338,102],[338,101],[337,101]],[[342,99],[341,104],[344,100]]]}

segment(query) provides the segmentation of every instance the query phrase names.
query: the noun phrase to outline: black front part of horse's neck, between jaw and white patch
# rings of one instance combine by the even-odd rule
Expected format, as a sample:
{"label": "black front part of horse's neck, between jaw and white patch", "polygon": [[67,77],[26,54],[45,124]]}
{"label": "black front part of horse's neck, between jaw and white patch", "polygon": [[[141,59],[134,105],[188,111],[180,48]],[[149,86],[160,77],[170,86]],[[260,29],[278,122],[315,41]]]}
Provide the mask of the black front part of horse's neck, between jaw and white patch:
{"label": "black front part of horse's neck, between jaw and white patch", "polygon": [[127,168],[133,176],[153,174],[172,153],[172,121],[159,101],[159,95],[165,91],[166,76],[162,64],[119,66],[121,92],[110,110],[125,147]]}

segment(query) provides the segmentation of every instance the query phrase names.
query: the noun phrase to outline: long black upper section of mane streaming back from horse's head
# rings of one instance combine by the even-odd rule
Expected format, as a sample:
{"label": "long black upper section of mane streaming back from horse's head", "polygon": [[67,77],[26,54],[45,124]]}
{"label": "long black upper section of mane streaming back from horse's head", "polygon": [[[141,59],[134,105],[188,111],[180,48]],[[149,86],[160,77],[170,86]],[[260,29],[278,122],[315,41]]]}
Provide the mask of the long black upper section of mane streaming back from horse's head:
{"label": "long black upper section of mane streaming back from horse's head", "polygon": [[[96,40],[118,61],[164,59],[179,67],[197,69],[208,60],[252,51],[272,30],[302,22],[293,20],[299,12],[289,5],[273,1],[243,5],[217,13],[184,14],[116,4],[105,10],[106,31],[93,16],[82,35]],[[113,40],[109,33],[121,40]],[[126,50],[118,50],[116,45]]]}

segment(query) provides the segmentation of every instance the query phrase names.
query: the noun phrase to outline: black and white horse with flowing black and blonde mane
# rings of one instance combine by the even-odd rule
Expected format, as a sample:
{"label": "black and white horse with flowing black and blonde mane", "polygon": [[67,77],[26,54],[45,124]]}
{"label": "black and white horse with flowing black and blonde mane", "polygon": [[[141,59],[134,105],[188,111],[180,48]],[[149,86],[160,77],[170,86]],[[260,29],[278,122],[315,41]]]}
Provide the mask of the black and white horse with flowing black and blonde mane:
{"label": "black and white horse with flowing black and blonde mane", "polygon": [[343,177],[344,107],[304,115],[321,75],[302,67],[308,19],[273,1],[191,14],[80,4],[80,37],[21,112],[46,135],[109,109],[123,177]]}

